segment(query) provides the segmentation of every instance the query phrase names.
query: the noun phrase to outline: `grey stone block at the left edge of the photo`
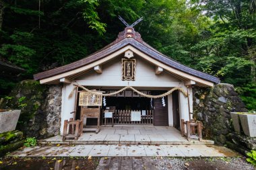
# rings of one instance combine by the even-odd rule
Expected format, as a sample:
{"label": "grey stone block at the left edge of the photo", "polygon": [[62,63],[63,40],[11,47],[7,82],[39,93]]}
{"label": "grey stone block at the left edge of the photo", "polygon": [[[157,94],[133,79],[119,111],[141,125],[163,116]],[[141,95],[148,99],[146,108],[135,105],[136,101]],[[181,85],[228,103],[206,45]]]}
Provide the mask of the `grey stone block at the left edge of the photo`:
{"label": "grey stone block at the left edge of the photo", "polygon": [[0,112],[0,134],[15,130],[20,112],[21,110]]}

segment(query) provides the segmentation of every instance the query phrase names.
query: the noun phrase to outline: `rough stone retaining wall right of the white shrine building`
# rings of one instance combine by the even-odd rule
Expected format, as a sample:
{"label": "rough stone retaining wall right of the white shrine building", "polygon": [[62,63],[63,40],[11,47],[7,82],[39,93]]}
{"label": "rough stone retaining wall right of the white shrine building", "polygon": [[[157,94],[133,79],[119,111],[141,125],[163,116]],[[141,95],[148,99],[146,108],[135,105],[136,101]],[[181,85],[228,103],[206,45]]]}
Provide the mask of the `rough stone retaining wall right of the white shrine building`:
{"label": "rough stone retaining wall right of the white shrine building", "polygon": [[203,122],[203,138],[216,144],[226,144],[227,135],[234,132],[230,112],[247,112],[233,85],[220,83],[213,88],[193,88],[193,110]]}

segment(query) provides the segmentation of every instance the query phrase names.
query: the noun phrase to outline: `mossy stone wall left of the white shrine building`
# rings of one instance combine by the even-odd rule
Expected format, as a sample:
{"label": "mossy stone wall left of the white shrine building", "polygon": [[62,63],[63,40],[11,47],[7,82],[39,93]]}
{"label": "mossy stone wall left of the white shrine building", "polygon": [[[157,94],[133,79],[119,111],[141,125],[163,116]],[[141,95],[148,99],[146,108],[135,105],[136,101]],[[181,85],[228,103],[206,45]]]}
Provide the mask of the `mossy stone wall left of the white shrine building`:
{"label": "mossy stone wall left of the white shrine building", "polygon": [[2,109],[21,109],[18,126],[27,137],[47,138],[59,134],[61,126],[61,85],[40,85],[21,81],[5,97]]}

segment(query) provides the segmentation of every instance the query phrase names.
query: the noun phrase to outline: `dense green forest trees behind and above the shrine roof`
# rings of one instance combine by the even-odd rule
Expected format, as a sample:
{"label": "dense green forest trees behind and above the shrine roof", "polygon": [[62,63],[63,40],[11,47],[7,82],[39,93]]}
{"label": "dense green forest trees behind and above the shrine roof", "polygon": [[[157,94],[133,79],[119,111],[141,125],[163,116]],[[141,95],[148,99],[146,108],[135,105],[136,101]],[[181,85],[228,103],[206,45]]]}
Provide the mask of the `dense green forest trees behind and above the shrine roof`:
{"label": "dense green forest trees behind and above the shrine roof", "polygon": [[0,97],[23,79],[79,60],[125,26],[188,67],[231,83],[256,108],[256,0],[0,0],[0,60],[26,69],[0,77]]}

